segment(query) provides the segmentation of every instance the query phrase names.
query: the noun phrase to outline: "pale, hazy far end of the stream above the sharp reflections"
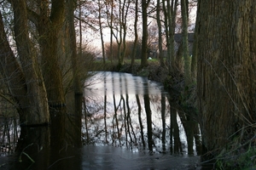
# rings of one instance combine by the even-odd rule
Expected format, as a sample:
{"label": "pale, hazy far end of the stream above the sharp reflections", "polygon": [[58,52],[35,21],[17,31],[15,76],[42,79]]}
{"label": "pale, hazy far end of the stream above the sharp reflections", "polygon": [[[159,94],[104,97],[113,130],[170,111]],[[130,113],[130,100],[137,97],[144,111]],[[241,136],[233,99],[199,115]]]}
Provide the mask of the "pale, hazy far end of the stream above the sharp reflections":
{"label": "pale, hazy far end of the stream above the sharp reflections", "polygon": [[97,72],[84,83],[86,96],[104,94],[161,94],[163,86],[146,77],[136,77],[128,73]]}

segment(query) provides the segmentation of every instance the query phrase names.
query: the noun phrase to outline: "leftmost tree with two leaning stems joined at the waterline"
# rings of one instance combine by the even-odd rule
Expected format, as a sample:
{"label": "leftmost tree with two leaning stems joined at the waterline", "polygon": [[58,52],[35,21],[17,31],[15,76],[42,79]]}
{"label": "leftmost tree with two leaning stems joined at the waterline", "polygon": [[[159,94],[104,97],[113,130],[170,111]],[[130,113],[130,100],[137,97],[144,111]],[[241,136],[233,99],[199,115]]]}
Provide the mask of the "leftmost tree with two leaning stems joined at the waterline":
{"label": "leftmost tree with two leaning stems joined at the waterline", "polygon": [[[4,31],[3,16],[0,16],[1,67],[0,71],[7,80],[9,92],[17,104],[20,124],[23,126],[49,123],[49,109],[44,81],[38,66],[37,55],[29,38],[26,18],[26,2],[11,1],[14,10],[15,42],[19,61],[9,46]],[[21,14],[22,13],[22,14]]]}

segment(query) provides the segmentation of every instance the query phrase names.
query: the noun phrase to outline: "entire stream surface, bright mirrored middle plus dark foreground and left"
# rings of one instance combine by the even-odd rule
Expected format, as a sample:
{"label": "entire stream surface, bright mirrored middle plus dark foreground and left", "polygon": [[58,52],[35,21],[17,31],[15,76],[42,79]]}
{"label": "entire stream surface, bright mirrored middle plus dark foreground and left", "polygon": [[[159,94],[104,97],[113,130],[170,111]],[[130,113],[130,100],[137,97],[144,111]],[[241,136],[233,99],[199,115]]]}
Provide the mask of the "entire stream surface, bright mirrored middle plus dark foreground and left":
{"label": "entire stream surface, bright mirrored middle plus dark foreground and left", "polygon": [[[9,122],[9,139],[0,125],[5,141],[0,169],[201,168],[201,134],[193,114],[182,111],[160,83],[131,74],[96,72],[84,83],[82,148],[32,144],[21,154],[8,154],[6,144],[15,147],[20,127]],[[48,133],[36,127],[25,135],[40,143]]]}

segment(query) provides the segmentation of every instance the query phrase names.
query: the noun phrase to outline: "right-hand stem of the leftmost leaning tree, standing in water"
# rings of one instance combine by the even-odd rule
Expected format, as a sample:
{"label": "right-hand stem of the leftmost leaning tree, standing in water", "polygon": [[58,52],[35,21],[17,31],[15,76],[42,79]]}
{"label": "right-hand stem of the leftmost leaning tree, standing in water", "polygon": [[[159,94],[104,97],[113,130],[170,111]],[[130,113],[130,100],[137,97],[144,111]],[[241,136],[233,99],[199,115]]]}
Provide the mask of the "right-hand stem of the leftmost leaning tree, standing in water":
{"label": "right-hand stem of the leftmost leaning tree, standing in water", "polygon": [[49,123],[49,106],[44,80],[28,35],[26,1],[13,0],[11,3],[14,8],[15,42],[26,79],[27,103],[23,107],[29,108],[25,117],[20,117],[22,121],[25,121],[21,123],[26,125]]}

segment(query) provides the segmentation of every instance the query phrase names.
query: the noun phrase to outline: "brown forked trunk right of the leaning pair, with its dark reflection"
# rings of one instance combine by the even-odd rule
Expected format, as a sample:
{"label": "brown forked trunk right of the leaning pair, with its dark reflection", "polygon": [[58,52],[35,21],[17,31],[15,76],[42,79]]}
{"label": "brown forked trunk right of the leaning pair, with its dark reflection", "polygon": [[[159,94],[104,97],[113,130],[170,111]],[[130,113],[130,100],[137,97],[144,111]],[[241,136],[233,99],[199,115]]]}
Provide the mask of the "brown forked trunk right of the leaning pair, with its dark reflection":
{"label": "brown forked trunk right of the leaning pair, with its dark reflection", "polygon": [[54,146],[60,146],[65,138],[66,101],[62,84],[62,74],[58,58],[58,36],[64,20],[64,0],[52,0],[49,11],[49,2],[41,2],[38,20],[34,21],[38,30],[38,42],[42,54],[42,67],[45,87],[49,99],[51,118],[51,138],[59,139]]}

